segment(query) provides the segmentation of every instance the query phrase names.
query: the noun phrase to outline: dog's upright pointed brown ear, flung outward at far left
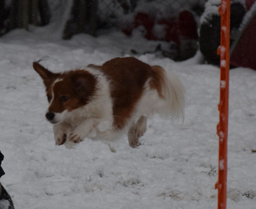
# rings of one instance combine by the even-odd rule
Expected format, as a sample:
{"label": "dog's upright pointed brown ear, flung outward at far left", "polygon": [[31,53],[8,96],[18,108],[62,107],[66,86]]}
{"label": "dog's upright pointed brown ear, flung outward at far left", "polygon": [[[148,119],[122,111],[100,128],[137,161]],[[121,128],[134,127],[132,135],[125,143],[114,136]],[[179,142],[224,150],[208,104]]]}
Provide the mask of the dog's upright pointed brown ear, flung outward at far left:
{"label": "dog's upright pointed brown ear, flung outward at far left", "polygon": [[40,75],[40,77],[43,79],[43,83],[46,86],[46,88],[49,87],[49,85],[51,84],[52,80],[57,76],[57,74],[52,73],[48,69],[44,68],[38,62],[34,62],[33,63],[33,68]]}

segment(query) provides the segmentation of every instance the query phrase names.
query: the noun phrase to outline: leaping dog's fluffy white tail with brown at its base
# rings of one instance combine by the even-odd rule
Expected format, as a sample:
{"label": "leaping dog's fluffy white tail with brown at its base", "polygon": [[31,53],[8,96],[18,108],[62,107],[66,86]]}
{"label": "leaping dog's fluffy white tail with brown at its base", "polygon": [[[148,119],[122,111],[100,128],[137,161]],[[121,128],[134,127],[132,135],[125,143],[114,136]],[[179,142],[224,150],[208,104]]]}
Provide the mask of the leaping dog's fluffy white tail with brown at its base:
{"label": "leaping dog's fluffy white tail with brown at its base", "polygon": [[162,97],[165,100],[164,107],[159,109],[163,117],[182,119],[184,121],[185,89],[179,77],[171,71],[165,71],[160,66],[152,66],[155,72],[161,75],[159,80]]}

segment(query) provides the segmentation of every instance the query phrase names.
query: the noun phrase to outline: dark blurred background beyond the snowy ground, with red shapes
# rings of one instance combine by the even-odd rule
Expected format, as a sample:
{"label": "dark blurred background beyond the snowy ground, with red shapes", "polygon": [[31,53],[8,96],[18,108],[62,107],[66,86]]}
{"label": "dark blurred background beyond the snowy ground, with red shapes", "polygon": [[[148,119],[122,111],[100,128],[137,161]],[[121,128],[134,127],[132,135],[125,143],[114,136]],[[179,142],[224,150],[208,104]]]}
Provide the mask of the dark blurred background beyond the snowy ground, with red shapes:
{"label": "dark blurred background beyond the snowy ground, with red shapes", "polygon": [[[97,37],[110,30],[119,31],[128,37],[143,37],[152,46],[149,51],[131,49],[131,54],[156,53],[183,61],[200,50],[207,63],[218,65],[220,3],[220,0],[0,0],[0,36],[16,28],[32,31],[33,27],[48,25],[58,26],[59,36],[65,40],[79,33]],[[255,0],[231,0],[231,67],[256,68],[252,59],[256,47],[255,8]],[[243,38],[246,30],[250,34]]]}

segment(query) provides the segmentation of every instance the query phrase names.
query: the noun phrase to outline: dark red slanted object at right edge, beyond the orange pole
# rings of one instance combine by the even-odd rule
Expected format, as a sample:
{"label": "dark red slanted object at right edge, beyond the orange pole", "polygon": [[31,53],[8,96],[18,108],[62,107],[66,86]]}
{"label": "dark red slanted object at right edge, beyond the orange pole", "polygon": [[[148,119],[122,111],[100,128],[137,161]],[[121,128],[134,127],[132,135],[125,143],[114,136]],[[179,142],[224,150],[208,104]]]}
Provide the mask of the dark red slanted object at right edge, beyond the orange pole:
{"label": "dark red slanted object at right edge, beyond the orange pole", "polygon": [[[255,0],[248,1],[256,4]],[[247,3],[248,3],[247,2]],[[249,4],[248,3],[248,4]],[[230,63],[239,67],[250,67],[256,69],[256,15],[249,22],[248,26],[242,31],[242,35],[233,50]]]}

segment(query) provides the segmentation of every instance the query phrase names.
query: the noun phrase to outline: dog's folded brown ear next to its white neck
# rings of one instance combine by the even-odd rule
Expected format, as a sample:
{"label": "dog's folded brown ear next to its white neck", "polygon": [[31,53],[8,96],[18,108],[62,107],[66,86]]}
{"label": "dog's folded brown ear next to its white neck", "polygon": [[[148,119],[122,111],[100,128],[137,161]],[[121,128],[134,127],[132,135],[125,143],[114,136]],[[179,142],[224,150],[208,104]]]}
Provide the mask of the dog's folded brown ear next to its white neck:
{"label": "dog's folded brown ear next to its white neck", "polygon": [[96,90],[96,78],[91,73],[79,72],[72,76],[74,91],[79,98],[87,103]]}

